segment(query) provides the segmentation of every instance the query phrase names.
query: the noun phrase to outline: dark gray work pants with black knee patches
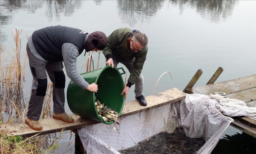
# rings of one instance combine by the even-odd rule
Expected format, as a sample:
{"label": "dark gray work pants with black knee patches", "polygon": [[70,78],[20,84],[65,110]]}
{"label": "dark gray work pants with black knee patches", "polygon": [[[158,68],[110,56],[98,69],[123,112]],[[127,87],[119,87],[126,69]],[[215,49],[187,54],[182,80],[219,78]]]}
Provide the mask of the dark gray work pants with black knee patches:
{"label": "dark gray work pants with black knee patches", "polygon": [[27,116],[31,120],[39,120],[44,96],[47,90],[47,74],[53,82],[53,112],[63,113],[65,103],[65,74],[62,70],[62,62],[45,63],[36,58],[27,44],[29,66],[33,76],[33,84]]}

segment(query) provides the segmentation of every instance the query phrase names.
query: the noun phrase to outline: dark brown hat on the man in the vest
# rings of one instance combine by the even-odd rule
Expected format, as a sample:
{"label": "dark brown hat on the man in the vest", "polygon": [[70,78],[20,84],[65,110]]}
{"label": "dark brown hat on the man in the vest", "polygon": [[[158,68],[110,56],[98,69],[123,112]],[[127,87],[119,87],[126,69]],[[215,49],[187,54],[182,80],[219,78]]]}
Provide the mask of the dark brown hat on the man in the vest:
{"label": "dark brown hat on the man in the vest", "polygon": [[94,48],[103,50],[107,46],[107,36],[101,31],[95,31],[88,35],[85,43],[85,51],[91,51]]}

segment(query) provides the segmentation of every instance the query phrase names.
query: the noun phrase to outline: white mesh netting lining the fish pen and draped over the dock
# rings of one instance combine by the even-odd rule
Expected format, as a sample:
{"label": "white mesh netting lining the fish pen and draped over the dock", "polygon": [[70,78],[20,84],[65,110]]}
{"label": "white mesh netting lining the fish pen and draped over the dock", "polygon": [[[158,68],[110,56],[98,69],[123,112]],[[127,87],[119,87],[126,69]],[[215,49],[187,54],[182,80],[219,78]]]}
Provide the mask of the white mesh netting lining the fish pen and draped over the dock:
{"label": "white mesh netting lining the fish pen and draped over the dock", "polygon": [[78,129],[88,154],[119,153],[160,132],[174,132],[180,124],[190,138],[206,143],[197,153],[211,153],[227,126],[233,121],[224,116],[255,117],[255,108],[219,95],[186,94],[175,102],[120,119],[120,125],[96,124]]}

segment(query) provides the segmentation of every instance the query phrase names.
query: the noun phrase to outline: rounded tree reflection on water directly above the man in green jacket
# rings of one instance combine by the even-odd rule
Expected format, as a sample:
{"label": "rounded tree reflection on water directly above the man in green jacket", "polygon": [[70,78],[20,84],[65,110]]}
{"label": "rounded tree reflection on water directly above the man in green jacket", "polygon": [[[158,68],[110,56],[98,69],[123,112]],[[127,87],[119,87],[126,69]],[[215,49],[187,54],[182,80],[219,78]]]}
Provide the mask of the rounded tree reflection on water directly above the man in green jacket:
{"label": "rounded tree reflection on water directly above the man in green jacket", "polygon": [[163,0],[126,0],[117,1],[117,7],[120,18],[133,26],[137,21],[149,21],[162,8],[163,3]]}

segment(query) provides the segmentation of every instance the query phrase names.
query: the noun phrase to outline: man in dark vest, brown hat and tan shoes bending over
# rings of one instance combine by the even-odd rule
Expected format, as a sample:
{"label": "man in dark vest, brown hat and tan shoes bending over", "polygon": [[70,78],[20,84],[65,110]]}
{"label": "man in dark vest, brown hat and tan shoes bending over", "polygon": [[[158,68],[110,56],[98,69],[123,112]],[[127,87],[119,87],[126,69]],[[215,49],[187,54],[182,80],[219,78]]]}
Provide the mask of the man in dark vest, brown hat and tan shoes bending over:
{"label": "man in dark vest, brown hat and tan shoes bending over", "polygon": [[27,43],[33,84],[26,124],[34,130],[42,129],[38,120],[47,90],[47,74],[53,82],[53,118],[73,123],[74,119],[64,110],[65,75],[62,61],[68,77],[76,85],[97,92],[98,86],[94,83],[89,85],[78,73],[76,59],[84,49],[86,52],[98,51],[106,46],[107,37],[100,31],[88,34],[80,29],[65,26],[50,26],[34,31]]}

